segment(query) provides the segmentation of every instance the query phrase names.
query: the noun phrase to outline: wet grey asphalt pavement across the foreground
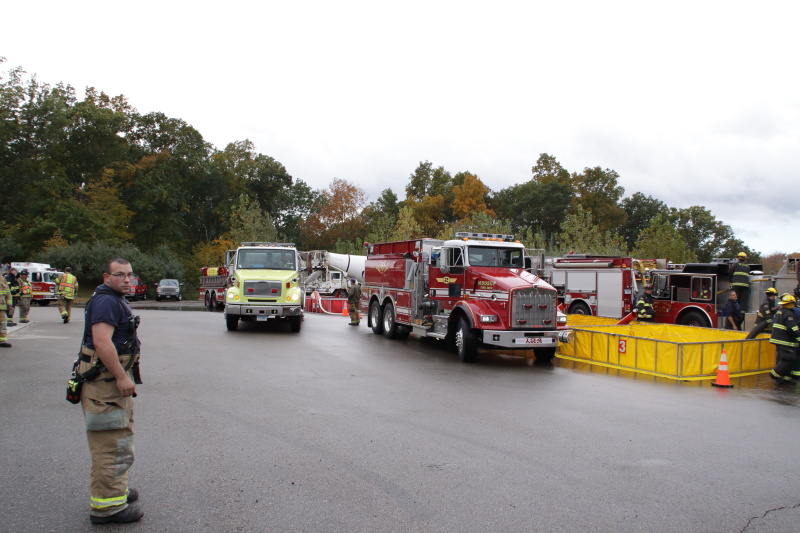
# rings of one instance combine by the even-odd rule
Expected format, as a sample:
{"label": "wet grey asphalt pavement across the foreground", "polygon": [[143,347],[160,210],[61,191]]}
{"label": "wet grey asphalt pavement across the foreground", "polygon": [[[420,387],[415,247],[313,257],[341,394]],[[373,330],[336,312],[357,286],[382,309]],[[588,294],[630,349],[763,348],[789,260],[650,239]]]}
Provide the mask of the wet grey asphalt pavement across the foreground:
{"label": "wet grey asphalt pavement across the foreground", "polygon": [[[225,329],[141,302],[137,524],[88,521],[64,400],[81,311],[0,351],[0,531],[796,532],[797,388],[676,383],[440,343],[341,316]],[[183,311],[178,311],[183,309]]]}

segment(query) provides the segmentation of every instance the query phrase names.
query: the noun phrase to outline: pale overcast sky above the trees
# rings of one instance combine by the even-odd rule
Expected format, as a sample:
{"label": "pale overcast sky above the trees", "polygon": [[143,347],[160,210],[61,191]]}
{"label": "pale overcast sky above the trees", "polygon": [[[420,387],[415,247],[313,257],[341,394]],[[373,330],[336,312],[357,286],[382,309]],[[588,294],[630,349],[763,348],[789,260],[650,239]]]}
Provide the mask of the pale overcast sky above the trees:
{"label": "pale overcast sky above the trees", "polygon": [[[405,197],[421,161],[498,191],[539,154],[800,252],[796,1],[6,3],[3,71],[124,94],[312,188]],[[793,226],[793,229],[789,229]]]}

